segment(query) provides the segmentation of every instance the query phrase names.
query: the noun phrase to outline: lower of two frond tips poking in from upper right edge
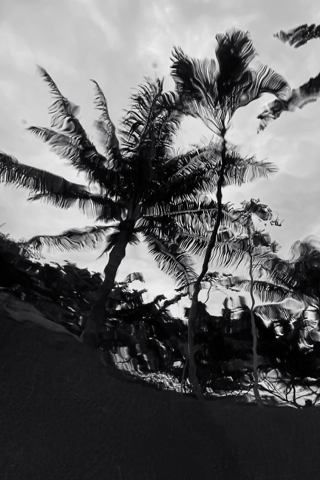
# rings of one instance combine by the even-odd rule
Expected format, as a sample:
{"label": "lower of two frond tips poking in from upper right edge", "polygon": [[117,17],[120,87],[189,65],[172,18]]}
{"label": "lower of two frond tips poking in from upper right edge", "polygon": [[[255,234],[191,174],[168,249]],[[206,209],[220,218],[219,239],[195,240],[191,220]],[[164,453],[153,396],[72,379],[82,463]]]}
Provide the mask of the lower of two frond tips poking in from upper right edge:
{"label": "lower of two frond tips poking in from upper right edge", "polygon": [[260,120],[258,133],[264,130],[272,120],[279,118],[282,112],[303,108],[308,103],[315,102],[319,95],[320,73],[300,87],[293,89],[287,99],[277,99],[269,103],[257,117]]}

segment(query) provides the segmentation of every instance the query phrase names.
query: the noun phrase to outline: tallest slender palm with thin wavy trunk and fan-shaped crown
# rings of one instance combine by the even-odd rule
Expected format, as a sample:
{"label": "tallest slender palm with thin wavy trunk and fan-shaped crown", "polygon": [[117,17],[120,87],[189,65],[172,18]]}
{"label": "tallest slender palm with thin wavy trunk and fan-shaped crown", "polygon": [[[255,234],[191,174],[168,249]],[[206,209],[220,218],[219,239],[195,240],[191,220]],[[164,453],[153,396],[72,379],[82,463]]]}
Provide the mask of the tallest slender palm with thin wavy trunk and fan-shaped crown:
{"label": "tallest slender palm with thin wavy trunk and fan-shaped crown", "polygon": [[[189,313],[189,377],[199,399],[203,399],[203,395],[196,377],[193,350],[198,294],[222,222],[222,187],[231,179],[236,183],[241,180],[237,175],[237,158],[228,155],[225,138],[228,126],[237,108],[247,105],[262,93],[272,93],[278,98],[285,98],[289,90],[282,76],[267,65],[257,62],[257,52],[248,32],[233,28],[225,34],[218,34],[216,39],[217,61],[190,59],[181,49],[176,48],[172,65],[172,76],[176,82],[181,111],[201,118],[218,135],[220,143],[217,181],[212,188],[212,193],[214,192],[217,199],[217,215],[206,245],[201,274],[194,284]],[[244,176],[245,171],[245,168],[242,168]]]}

